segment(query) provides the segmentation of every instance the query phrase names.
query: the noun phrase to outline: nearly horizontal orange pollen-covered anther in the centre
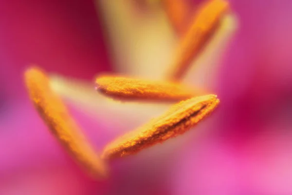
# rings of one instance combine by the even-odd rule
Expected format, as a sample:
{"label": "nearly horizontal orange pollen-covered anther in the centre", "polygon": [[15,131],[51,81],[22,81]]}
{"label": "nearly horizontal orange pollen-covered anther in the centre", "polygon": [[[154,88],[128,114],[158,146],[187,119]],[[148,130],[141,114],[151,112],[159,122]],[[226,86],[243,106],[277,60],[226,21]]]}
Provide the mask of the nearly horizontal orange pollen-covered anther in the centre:
{"label": "nearly horizontal orange pollen-covered anther in the centre", "polygon": [[96,89],[104,95],[119,100],[181,101],[203,94],[202,90],[195,90],[175,82],[110,76],[97,78]]}

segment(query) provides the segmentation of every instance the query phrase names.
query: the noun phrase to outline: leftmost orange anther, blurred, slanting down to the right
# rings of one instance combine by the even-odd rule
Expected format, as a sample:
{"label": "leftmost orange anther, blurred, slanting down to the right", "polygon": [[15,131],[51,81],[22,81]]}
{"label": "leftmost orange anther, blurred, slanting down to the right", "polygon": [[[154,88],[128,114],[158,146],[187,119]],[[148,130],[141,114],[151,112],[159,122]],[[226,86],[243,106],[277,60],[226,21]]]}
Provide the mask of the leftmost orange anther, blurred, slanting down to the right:
{"label": "leftmost orange anther, blurred, slanting down to the right", "polygon": [[38,68],[30,68],[25,72],[25,82],[38,113],[55,137],[89,174],[106,177],[106,164],[94,152],[62,100],[50,89],[45,73]]}

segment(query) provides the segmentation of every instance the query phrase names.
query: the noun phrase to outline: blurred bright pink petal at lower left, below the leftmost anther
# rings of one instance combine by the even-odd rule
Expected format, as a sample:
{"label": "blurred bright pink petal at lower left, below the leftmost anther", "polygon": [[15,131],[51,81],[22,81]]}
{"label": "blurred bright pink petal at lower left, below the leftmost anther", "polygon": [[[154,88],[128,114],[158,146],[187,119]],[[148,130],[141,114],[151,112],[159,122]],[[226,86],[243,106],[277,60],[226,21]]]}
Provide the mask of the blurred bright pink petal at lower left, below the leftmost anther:
{"label": "blurred bright pink petal at lower left, below the leftmost anther", "polygon": [[0,194],[104,193],[51,135],[31,102],[10,105],[0,117]]}

